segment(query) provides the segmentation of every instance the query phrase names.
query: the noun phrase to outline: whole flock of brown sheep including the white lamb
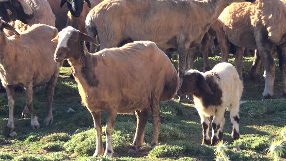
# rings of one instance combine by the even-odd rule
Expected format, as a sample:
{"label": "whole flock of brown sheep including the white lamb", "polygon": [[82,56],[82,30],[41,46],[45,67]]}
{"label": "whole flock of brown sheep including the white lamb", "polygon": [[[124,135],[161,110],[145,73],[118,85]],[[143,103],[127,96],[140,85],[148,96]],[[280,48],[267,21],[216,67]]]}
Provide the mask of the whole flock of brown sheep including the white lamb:
{"label": "whole flock of brown sheep including the white lamb", "polygon": [[[59,68],[72,66],[82,104],[96,130],[94,156],[113,156],[111,135],[117,113],[136,113],[137,128],[129,153],[143,145],[148,113],[152,113],[151,148],[159,138],[159,101],[193,96],[203,129],[202,144],[222,140],[226,107],[239,138],[242,57],[256,49],[251,74],[265,68],[263,97],[274,95],[274,49],[279,55],[286,94],[285,0],[1,0],[0,79],[9,106],[8,130],[16,136],[15,86],[23,86],[32,129],[40,124],[33,109],[33,87],[47,83],[47,115],[53,123],[52,101]],[[5,29],[5,30],[4,30]],[[236,47],[235,65],[219,63],[210,70],[192,70],[193,48],[207,48],[215,34],[228,61],[228,42]],[[178,51],[175,69],[168,49]],[[94,53],[97,51],[96,53]],[[164,52],[165,53],[164,53]],[[190,70],[189,70],[190,69]],[[107,113],[106,149],[102,144],[101,111]],[[212,136],[209,137],[209,117]]]}

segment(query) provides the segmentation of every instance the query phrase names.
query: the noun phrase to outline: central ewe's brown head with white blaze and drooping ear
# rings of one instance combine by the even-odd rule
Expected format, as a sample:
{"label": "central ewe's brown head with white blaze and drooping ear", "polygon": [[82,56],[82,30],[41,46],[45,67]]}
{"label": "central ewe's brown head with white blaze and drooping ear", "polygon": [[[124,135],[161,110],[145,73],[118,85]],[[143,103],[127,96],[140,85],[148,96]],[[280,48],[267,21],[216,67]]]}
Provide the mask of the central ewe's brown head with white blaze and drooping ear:
{"label": "central ewe's brown head with white blaze and drooping ear", "polygon": [[66,27],[58,35],[51,40],[57,42],[57,48],[55,51],[55,61],[62,62],[65,59],[78,59],[80,54],[83,52],[82,48],[84,41],[89,41],[95,45],[99,45],[95,39],[89,35],[76,30],[73,27]]}

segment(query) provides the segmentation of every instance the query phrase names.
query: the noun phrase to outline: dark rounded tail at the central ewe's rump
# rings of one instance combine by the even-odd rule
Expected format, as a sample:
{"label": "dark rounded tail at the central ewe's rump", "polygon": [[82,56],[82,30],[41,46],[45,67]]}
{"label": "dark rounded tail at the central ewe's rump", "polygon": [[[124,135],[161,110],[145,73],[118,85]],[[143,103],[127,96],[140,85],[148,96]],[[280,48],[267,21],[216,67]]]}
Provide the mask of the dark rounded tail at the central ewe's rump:
{"label": "dark rounded tail at the central ewe's rump", "polygon": [[173,74],[168,75],[165,86],[161,95],[161,101],[167,101],[172,99],[179,89],[179,76],[174,69]]}

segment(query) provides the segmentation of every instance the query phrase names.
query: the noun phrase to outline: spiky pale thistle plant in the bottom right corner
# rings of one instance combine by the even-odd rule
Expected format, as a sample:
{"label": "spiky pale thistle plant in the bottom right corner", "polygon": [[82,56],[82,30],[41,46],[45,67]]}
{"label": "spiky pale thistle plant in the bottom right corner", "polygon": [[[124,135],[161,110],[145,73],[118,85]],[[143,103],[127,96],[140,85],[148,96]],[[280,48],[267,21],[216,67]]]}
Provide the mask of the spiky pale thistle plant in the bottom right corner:
{"label": "spiky pale thistle plant in the bottom right corner", "polygon": [[285,143],[283,140],[273,141],[266,150],[267,154],[274,158],[274,161],[280,161],[280,157],[286,152]]}

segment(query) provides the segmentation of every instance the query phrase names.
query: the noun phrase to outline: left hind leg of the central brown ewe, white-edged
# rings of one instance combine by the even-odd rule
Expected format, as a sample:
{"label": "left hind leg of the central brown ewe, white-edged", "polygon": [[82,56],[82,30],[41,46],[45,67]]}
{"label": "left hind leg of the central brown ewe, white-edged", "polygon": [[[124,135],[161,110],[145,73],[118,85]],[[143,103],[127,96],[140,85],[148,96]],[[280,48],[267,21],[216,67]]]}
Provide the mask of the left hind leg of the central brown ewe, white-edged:
{"label": "left hind leg of the central brown ewe, white-edged", "polygon": [[128,153],[136,154],[138,149],[143,145],[144,131],[148,118],[148,111],[136,111],[137,116],[137,128],[134,137],[134,141]]}

